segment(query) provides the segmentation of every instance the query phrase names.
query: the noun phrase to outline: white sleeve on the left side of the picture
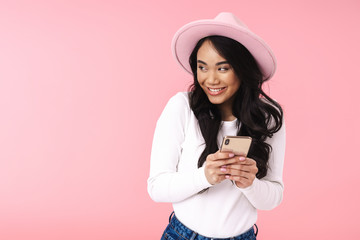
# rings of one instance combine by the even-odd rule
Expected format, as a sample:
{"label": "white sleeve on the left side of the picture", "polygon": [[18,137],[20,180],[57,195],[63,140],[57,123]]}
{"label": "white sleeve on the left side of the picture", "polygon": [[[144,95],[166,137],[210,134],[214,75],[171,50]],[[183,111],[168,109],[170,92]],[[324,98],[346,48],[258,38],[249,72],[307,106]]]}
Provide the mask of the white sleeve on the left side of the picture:
{"label": "white sleeve on the left side of the picture", "polygon": [[204,167],[177,172],[190,114],[187,96],[178,93],[156,123],[147,181],[148,193],[155,202],[180,202],[211,186]]}

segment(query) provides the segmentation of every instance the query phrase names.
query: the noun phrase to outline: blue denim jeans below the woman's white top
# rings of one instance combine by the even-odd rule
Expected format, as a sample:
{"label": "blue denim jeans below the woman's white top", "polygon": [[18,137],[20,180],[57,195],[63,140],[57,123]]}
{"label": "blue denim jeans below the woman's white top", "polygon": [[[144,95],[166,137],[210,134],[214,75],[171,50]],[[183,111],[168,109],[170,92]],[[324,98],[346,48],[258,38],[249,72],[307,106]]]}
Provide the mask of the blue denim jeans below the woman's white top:
{"label": "blue denim jeans below the woman's white top", "polygon": [[256,225],[256,233],[254,228],[250,228],[247,232],[231,238],[208,238],[187,228],[173,214],[170,215],[169,225],[166,227],[161,240],[256,240]]}

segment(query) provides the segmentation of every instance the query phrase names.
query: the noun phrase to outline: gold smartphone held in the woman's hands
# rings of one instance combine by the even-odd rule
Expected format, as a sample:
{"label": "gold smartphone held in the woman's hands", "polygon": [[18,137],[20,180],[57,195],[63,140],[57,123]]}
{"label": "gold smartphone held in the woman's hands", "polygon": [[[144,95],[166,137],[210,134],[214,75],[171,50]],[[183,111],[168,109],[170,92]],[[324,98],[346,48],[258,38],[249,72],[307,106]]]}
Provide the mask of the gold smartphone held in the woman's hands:
{"label": "gold smartphone held in the woman's hands", "polygon": [[235,155],[247,156],[252,138],[247,136],[225,136],[220,152],[233,152]]}

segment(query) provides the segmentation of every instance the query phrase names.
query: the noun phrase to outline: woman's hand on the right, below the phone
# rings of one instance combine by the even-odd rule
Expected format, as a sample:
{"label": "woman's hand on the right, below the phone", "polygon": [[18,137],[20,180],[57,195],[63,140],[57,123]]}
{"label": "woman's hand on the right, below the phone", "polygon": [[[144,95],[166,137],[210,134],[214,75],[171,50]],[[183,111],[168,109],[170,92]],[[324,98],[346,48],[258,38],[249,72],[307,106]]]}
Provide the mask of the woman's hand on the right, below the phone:
{"label": "woman's hand on the right, below the phone", "polygon": [[226,179],[235,181],[236,186],[239,188],[246,188],[252,185],[256,178],[258,168],[256,161],[251,158],[245,158],[243,156],[237,156],[239,161],[226,166]]}

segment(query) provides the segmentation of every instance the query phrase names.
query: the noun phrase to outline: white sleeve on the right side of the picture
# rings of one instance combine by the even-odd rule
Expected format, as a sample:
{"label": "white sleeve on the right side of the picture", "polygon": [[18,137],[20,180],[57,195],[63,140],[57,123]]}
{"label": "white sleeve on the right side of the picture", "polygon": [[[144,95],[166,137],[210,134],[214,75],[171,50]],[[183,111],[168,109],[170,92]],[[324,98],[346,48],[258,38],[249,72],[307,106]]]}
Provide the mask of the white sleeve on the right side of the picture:
{"label": "white sleeve on the right side of the picture", "polygon": [[285,158],[285,121],[278,132],[267,140],[272,151],[269,156],[269,169],[262,179],[255,178],[247,188],[239,188],[259,210],[271,210],[277,207],[283,199],[284,183],[282,179]]}

